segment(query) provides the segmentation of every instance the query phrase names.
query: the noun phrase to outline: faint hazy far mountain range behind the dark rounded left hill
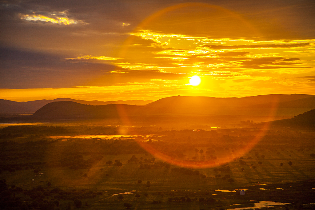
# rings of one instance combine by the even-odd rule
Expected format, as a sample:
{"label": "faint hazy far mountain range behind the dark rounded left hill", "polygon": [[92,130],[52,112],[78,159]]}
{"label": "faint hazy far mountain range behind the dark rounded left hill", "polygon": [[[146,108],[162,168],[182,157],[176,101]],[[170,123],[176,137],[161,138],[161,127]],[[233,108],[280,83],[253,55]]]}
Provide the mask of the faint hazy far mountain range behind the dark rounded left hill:
{"label": "faint hazy far mountain range behind the dark rounded left hill", "polygon": [[80,104],[87,105],[106,105],[106,104],[129,104],[129,105],[146,105],[148,103],[153,102],[152,100],[118,100],[118,101],[85,101],[85,100],[76,100],[69,98],[58,98],[52,100],[35,100],[35,101],[27,101],[27,102],[16,102],[5,99],[0,99],[0,113],[34,113],[44,105],[55,102],[55,101],[73,101]]}

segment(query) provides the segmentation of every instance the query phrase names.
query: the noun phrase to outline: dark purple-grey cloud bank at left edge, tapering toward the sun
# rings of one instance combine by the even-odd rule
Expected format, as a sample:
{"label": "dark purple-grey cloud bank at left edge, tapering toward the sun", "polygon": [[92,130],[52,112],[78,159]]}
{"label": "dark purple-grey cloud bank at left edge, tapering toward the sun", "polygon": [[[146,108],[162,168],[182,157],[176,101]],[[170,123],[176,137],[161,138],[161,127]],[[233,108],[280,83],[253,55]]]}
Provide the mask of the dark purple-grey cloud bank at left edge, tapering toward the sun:
{"label": "dark purple-grey cloud bank at left edge, tapering toward the sun", "polygon": [[0,48],[0,88],[66,88],[117,70],[114,65],[66,60],[60,55]]}

